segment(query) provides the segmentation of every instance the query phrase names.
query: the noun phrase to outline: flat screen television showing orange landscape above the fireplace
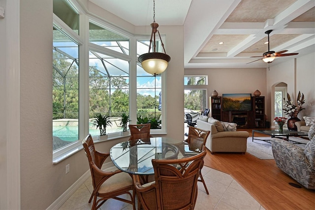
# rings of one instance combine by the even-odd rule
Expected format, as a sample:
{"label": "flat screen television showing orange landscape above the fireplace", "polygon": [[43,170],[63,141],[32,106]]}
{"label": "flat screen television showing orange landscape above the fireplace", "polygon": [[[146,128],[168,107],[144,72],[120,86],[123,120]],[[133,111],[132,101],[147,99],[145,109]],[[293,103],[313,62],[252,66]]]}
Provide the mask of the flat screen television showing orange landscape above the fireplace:
{"label": "flat screen television showing orange landscape above the fireplace", "polygon": [[251,93],[222,94],[223,111],[251,111]]}

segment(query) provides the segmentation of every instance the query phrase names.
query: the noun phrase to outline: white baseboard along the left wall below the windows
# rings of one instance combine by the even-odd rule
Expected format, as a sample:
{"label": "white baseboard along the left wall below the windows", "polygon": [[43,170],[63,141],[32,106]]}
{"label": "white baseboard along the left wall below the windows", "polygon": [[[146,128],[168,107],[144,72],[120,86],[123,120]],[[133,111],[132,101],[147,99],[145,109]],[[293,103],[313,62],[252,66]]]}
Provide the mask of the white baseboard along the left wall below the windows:
{"label": "white baseboard along the left wall below the windows", "polygon": [[[102,168],[112,167],[114,164],[112,162],[103,164]],[[84,184],[84,182],[91,176],[90,169],[84,173],[78,180],[76,180],[64,193],[52,203],[46,210],[58,210],[60,209],[64,202],[66,202],[71,195],[79,189],[79,187]]]}

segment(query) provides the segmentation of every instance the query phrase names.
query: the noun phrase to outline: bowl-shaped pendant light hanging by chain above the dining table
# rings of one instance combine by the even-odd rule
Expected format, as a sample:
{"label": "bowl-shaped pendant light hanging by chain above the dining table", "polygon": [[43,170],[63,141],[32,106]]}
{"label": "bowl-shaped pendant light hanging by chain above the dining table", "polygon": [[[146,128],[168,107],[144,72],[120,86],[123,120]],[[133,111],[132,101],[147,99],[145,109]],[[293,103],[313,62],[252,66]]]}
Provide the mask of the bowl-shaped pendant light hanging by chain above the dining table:
{"label": "bowl-shaped pendant light hanging by chain above the dining table", "polygon": [[[171,60],[171,57],[166,54],[164,49],[164,44],[161,39],[161,35],[158,32],[158,24],[156,23],[155,17],[155,0],[153,0],[153,23],[151,23],[152,33],[150,38],[149,52],[139,56],[138,61],[141,63],[142,68],[151,73],[152,75],[157,75],[162,73]],[[163,47],[164,53],[156,52],[156,33],[158,32],[159,39],[161,40],[161,45]],[[153,39],[153,52],[150,52]]]}

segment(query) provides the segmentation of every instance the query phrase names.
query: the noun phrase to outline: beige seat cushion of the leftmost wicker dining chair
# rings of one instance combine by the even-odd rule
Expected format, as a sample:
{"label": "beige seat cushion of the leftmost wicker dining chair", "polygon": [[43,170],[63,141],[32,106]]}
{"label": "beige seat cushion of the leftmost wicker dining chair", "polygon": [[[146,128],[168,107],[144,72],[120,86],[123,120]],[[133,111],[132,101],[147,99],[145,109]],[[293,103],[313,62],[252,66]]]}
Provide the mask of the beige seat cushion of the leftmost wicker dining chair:
{"label": "beige seat cushion of the leftmost wicker dining chair", "polygon": [[98,193],[109,193],[130,185],[132,185],[131,176],[125,172],[121,172],[109,177],[102,186],[100,186]]}

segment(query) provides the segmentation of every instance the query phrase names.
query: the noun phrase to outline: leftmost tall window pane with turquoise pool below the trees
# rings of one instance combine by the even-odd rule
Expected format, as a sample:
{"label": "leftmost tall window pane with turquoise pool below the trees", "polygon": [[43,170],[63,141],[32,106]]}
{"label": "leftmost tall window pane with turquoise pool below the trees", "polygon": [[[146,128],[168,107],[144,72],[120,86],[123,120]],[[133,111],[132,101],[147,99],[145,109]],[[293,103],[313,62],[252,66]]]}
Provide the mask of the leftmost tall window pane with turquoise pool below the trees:
{"label": "leftmost tall window pane with turquoise pool below the trees", "polygon": [[53,150],[79,139],[79,46],[53,28]]}

